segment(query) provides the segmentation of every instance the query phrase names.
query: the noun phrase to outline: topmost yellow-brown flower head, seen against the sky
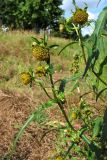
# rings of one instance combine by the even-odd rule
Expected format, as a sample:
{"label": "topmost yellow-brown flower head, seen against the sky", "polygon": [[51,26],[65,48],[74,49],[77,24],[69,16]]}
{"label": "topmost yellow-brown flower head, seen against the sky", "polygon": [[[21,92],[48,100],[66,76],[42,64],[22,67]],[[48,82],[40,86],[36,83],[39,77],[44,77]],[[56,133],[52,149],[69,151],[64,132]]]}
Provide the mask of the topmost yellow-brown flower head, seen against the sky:
{"label": "topmost yellow-brown flower head, seen against the sky", "polygon": [[88,21],[88,13],[85,10],[78,8],[72,17],[72,21],[75,24],[85,24]]}

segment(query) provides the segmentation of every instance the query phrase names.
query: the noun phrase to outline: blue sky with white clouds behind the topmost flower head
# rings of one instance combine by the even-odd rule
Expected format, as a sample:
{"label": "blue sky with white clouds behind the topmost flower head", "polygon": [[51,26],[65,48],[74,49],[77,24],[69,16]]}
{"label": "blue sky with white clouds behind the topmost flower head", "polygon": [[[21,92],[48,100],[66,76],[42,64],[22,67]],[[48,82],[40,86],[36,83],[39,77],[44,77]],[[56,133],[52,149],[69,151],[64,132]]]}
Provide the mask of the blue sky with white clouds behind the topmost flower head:
{"label": "blue sky with white clouds behind the topmost flower head", "polygon": [[[99,3],[99,5],[97,6],[99,0],[75,0],[76,3],[78,4],[78,6],[80,8],[84,8],[85,4],[87,3],[88,5],[88,14],[89,14],[89,19],[93,19],[96,20],[98,18],[98,15],[100,14],[100,12],[102,11],[102,9],[104,7],[107,7],[107,0],[101,0],[101,2]],[[73,4],[72,4],[72,0],[63,0],[63,4],[61,6],[62,9],[64,9],[65,17],[70,17],[71,16],[71,10],[74,10]],[[91,27],[85,27],[82,30],[83,35],[86,34],[91,34],[94,30],[94,24],[92,24]]]}

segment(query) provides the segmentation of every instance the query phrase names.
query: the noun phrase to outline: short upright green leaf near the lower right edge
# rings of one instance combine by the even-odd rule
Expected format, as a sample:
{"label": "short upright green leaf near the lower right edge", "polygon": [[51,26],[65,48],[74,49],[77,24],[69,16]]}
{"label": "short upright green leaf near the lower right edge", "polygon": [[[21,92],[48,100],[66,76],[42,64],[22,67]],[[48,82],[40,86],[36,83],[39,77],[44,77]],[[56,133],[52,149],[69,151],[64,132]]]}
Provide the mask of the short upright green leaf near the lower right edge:
{"label": "short upright green leaf near the lower right edge", "polygon": [[93,138],[99,136],[102,128],[103,118],[98,117],[94,121],[94,127],[93,127]]}

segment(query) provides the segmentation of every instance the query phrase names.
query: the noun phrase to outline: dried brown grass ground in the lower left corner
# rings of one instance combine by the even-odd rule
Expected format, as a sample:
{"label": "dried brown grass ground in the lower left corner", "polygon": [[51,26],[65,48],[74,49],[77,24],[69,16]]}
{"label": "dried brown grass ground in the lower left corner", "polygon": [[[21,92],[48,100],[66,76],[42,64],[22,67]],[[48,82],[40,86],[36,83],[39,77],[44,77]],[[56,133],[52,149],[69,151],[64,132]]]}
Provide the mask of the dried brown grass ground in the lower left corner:
{"label": "dried brown grass ground in the lower left corner", "polygon": [[[17,131],[34,111],[37,103],[18,93],[0,90],[0,159],[3,159],[10,150]],[[54,149],[56,133],[50,132],[40,143],[44,132],[45,129],[32,123],[18,142],[12,160],[47,160]]]}

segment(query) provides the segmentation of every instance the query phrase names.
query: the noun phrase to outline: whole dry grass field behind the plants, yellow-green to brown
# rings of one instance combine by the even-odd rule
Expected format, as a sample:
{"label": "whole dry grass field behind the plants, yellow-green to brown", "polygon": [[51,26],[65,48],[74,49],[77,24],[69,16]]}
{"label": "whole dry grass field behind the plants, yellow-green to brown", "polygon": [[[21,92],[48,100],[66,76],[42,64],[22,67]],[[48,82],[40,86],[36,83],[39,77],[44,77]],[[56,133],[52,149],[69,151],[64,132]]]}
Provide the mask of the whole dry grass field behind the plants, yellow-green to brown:
{"label": "whole dry grass field behind the plants, yellow-green to brown", "polygon": [[[7,33],[0,32],[0,158],[10,149],[11,142],[23,122],[39,104],[46,102],[48,98],[43,94],[39,87],[33,85],[32,88],[21,84],[19,75],[23,71],[34,68],[37,62],[32,57],[31,36],[38,38],[34,32],[12,31]],[[73,54],[80,52],[77,44],[68,47],[61,56],[57,53],[69,40],[49,37],[50,44],[59,44],[59,49],[53,51],[52,63],[55,64],[54,80],[62,77],[71,76],[70,67]],[[59,66],[60,64],[60,66]],[[59,68],[61,72],[59,73]],[[81,70],[84,65],[81,65]],[[72,87],[72,83],[69,84]],[[87,85],[81,82],[81,94],[88,91]],[[86,100],[95,107],[99,115],[104,108],[103,103],[95,103],[93,94],[87,95]],[[74,107],[79,104],[79,95],[74,92],[68,96],[68,106]],[[99,109],[98,109],[99,108]],[[53,120],[62,120],[58,109],[48,110],[49,117]],[[46,128],[45,128],[46,129]],[[47,160],[54,148],[56,132],[48,134],[42,144],[38,143],[40,137],[46,131],[37,124],[32,125],[25,131],[21,141],[18,142],[17,152],[12,160]]]}

